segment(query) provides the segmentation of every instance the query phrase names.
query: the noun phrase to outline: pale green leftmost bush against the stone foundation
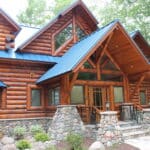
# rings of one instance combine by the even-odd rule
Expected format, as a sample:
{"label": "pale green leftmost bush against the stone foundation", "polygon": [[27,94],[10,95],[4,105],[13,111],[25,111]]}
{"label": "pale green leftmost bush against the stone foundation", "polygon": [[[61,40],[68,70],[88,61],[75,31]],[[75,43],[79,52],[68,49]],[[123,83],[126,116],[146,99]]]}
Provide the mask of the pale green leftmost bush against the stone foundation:
{"label": "pale green leftmost bush against the stone foundation", "polygon": [[26,133],[25,127],[16,126],[13,130],[13,134],[16,139],[22,139]]}

